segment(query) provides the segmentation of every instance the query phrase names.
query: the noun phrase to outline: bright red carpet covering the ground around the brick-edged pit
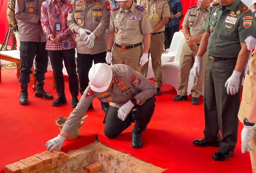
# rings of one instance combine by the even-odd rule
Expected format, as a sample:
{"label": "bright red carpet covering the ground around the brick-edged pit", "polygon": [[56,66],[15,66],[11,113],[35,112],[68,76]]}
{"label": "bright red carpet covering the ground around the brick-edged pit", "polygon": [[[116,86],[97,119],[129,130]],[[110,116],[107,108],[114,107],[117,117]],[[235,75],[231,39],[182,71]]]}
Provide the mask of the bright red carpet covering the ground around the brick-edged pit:
{"label": "bright red carpet covering the ground around the brick-edged pit", "polygon": [[[52,72],[46,73],[45,90],[57,98],[52,88]],[[46,150],[44,144],[59,134],[54,123],[58,116],[68,117],[73,110],[68,83],[66,97],[68,103],[60,107],[53,107],[53,100],[35,98],[32,91],[32,82],[29,83],[29,105],[18,104],[20,83],[16,78],[16,70],[3,70],[0,82],[0,173],[6,164],[26,158]],[[61,150],[78,149],[93,143],[97,134],[99,140],[117,150],[129,153],[139,159],[150,162],[158,167],[168,168],[165,173],[216,173],[234,172],[251,173],[249,153],[241,153],[240,133],[242,124],[239,124],[238,144],[235,156],[224,162],[212,160],[212,154],[218,150],[215,147],[196,147],[192,141],[203,137],[204,114],[202,98],[200,105],[190,104],[189,100],[174,102],[176,95],[171,85],[162,86],[162,96],[157,96],[155,113],[142,134],[144,146],[141,149],[131,148],[132,126],[126,129],[116,139],[110,140],[104,135],[105,116],[100,108],[98,99],[94,99],[94,109],[89,115],[78,139],[65,141]],[[133,125],[133,124],[132,124]]]}

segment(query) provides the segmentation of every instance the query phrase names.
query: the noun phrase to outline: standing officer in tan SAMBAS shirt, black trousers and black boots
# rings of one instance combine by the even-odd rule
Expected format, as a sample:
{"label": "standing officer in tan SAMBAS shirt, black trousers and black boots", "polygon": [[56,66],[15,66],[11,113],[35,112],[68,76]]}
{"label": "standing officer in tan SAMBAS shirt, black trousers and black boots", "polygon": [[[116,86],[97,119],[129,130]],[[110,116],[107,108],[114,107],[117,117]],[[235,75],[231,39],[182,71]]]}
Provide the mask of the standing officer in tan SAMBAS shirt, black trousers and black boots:
{"label": "standing officer in tan SAMBAS shirt, black trousers and black boots", "polygon": [[20,33],[20,77],[21,83],[20,104],[27,105],[27,83],[32,73],[31,68],[35,59],[35,80],[37,89],[34,97],[53,99],[44,91],[44,73],[47,72],[48,55],[46,38],[41,26],[41,5],[43,0],[16,0],[15,17],[18,19],[18,31]]}

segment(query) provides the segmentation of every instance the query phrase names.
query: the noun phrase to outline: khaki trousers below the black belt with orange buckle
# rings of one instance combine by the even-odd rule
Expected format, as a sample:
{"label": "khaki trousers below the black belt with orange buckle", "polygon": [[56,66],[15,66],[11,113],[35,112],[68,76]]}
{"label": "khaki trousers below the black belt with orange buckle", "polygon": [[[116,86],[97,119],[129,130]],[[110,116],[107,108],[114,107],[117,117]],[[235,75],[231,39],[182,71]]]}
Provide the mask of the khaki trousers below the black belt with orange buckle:
{"label": "khaki trousers below the black belt with orange buckle", "polygon": [[120,47],[117,47],[116,44],[114,44],[112,53],[112,64],[125,64],[131,67],[133,70],[140,72],[140,58],[142,54],[142,45],[131,49],[121,49]]}

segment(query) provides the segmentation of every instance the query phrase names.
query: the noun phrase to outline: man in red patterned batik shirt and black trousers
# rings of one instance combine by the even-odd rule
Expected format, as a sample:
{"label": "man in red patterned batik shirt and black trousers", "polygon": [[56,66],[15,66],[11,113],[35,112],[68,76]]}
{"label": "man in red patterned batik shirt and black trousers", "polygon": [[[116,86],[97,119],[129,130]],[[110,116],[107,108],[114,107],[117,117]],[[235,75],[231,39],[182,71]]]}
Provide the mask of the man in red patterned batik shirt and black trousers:
{"label": "man in red patterned batik shirt and black trousers", "polygon": [[41,22],[47,38],[46,50],[52,64],[58,99],[52,106],[67,103],[65,97],[63,61],[69,75],[69,91],[72,95],[71,107],[78,103],[78,77],[76,74],[74,33],[67,27],[69,0],[46,0],[41,8]]}

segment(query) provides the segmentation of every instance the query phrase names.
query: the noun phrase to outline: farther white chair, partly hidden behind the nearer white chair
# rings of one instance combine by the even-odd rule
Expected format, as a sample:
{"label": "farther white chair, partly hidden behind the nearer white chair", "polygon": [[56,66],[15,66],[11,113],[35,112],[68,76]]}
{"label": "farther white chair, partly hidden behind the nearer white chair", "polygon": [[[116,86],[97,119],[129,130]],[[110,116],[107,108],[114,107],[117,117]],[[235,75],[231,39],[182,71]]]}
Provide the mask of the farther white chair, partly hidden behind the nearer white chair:
{"label": "farther white chair, partly hidden behind the nearer white chair", "polygon": [[[172,38],[171,46],[168,53],[163,53],[161,56],[162,63],[165,62],[174,62],[174,58],[179,46],[180,39],[184,40],[183,32],[175,32]],[[182,47],[182,46],[181,46]]]}

